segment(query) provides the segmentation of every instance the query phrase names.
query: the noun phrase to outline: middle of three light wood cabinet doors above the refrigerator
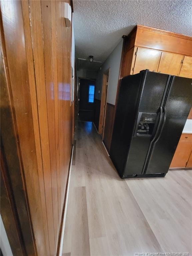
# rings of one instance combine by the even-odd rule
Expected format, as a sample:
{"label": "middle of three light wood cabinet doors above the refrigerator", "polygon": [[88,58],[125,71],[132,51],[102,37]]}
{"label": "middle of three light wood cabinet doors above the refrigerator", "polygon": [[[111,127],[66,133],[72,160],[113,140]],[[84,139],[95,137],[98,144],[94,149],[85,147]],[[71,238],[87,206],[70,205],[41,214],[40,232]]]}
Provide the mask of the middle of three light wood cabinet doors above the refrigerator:
{"label": "middle of three light wood cabinet doors above the refrigerator", "polygon": [[178,76],[183,57],[178,54],[162,52],[158,72]]}

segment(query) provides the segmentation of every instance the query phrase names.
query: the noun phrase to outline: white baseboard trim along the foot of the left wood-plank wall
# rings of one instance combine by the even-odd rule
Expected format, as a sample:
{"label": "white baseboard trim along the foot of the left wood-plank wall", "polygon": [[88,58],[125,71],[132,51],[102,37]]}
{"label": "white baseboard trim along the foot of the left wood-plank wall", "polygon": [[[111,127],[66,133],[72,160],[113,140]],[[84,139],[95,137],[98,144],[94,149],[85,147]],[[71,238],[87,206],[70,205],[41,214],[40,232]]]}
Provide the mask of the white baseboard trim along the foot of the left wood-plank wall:
{"label": "white baseboard trim along the foot of the left wood-plank wall", "polygon": [[64,231],[65,231],[65,221],[66,221],[66,214],[67,214],[67,203],[68,203],[68,197],[69,197],[69,185],[70,185],[70,179],[71,179],[71,166],[72,166],[72,160],[73,160],[73,149],[71,152],[71,160],[70,160],[70,166],[69,166],[69,175],[68,175],[68,181],[67,181],[67,192],[65,196],[65,205],[62,213],[62,221],[61,221],[61,227],[60,227],[60,236],[58,239],[58,256],[62,256],[62,250],[63,250],[63,239],[64,239]]}

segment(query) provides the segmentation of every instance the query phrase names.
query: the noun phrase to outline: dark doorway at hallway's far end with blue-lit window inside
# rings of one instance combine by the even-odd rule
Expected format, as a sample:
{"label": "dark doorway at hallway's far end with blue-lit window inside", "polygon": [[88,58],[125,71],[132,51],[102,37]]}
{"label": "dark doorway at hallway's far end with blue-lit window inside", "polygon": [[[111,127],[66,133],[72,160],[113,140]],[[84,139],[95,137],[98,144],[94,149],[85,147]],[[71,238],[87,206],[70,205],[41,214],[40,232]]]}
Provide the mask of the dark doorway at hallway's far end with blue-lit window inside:
{"label": "dark doorway at hallway's far end with blue-lit window inside", "polygon": [[78,121],[93,121],[95,80],[79,78],[78,84]]}

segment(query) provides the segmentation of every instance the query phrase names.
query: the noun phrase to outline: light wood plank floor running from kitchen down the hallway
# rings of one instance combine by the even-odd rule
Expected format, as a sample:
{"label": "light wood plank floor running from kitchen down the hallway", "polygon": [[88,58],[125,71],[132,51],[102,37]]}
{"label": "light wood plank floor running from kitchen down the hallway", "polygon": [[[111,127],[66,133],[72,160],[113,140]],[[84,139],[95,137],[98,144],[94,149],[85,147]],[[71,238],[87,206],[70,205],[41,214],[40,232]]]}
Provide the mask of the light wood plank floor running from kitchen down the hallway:
{"label": "light wood plank floor running from kitchen down the hallway", "polygon": [[91,122],[75,139],[63,256],[192,255],[192,171],[122,180]]}

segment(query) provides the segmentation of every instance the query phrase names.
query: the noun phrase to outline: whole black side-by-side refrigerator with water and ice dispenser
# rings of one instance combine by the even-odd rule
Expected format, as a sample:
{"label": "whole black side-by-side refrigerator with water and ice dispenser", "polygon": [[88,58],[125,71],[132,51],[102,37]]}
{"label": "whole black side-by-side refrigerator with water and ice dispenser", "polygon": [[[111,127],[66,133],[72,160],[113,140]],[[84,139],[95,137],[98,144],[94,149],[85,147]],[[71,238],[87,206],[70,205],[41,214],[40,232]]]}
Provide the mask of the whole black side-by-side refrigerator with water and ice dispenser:
{"label": "whole black side-by-side refrigerator with water and ice dispenser", "polygon": [[149,70],[121,79],[110,157],[121,178],[164,177],[192,105],[192,79]]}

